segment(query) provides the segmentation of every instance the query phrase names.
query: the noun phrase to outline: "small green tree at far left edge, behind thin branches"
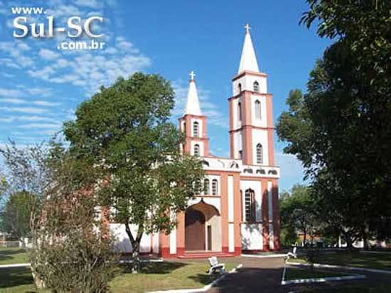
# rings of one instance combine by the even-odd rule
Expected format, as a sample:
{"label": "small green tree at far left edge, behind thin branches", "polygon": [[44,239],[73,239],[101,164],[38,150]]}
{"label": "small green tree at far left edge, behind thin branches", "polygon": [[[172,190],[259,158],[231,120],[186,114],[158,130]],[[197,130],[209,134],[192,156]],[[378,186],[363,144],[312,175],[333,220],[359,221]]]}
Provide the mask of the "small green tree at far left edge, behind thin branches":
{"label": "small green tree at far left edge, behind thin branches", "polygon": [[33,196],[26,191],[11,193],[7,198],[2,226],[5,232],[18,238],[24,246],[24,238],[31,237],[30,218]]}

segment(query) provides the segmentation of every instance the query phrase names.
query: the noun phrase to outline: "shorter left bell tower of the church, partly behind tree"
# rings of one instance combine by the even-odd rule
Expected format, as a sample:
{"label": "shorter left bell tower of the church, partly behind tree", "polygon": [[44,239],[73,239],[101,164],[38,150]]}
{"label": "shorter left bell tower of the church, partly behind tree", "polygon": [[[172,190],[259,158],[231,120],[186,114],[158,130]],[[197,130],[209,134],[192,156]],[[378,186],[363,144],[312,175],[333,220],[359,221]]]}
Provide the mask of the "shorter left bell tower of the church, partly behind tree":
{"label": "shorter left bell tower of the church, partly behind tree", "polygon": [[193,156],[209,156],[209,139],[207,136],[206,116],[200,110],[197,87],[195,87],[195,73],[191,71],[186,110],[179,118],[181,132],[185,134],[185,144],[182,150]]}

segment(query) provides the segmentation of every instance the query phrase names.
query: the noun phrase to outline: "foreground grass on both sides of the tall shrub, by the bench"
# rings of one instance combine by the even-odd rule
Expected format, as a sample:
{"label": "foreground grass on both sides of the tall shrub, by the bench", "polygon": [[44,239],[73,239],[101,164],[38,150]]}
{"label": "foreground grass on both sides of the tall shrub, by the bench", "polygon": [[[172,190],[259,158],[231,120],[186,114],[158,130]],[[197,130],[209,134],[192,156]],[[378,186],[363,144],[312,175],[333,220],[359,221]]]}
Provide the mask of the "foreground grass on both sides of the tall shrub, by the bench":
{"label": "foreground grass on both sides of the tall shrub, by the bench", "polygon": [[[237,263],[227,262],[231,270]],[[207,262],[150,262],[138,274],[119,267],[116,276],[109,283],[111,292],[146,292],[164,289],[200,288],[209,284],[218,275],[208,275]],[[40,292],[33,285],[28,267],[0,269],[0,292]]]}

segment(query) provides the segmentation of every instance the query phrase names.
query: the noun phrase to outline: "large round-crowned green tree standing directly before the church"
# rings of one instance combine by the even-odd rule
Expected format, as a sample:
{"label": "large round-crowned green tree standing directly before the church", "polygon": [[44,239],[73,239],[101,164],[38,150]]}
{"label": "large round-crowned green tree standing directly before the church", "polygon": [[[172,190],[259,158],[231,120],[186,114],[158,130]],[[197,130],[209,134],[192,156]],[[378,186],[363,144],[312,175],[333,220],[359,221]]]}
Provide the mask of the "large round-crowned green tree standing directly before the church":
{"label": "large round-crowned green tree standing directly before the church", "polygon": [[194,183],[203,177],[202,166],[180,152],[182,136],[168,121],[173,105],[168,81],[136,73],[102,87],[64,126],[70,151],[100,170],[102,206],[112,206],[112,220],[124,224],[134,271],[142,235],[169,233],[176,225],[173,215],[200,192],[200,184]]}

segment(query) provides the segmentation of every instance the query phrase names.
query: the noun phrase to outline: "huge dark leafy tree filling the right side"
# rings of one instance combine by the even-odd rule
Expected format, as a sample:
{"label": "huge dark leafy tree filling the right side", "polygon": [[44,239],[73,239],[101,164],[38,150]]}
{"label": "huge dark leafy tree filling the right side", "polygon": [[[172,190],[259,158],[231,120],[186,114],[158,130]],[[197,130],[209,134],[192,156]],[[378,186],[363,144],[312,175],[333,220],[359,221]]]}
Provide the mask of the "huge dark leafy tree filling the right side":
{"label": "huge dark leafy tree filling the right side", "polygon": [[[309,0],[301,21],[336,40],[277,124],[331,226],[365,245],[391,219],[390,1]],[[348,242],[350,242],[348,240]]]}

